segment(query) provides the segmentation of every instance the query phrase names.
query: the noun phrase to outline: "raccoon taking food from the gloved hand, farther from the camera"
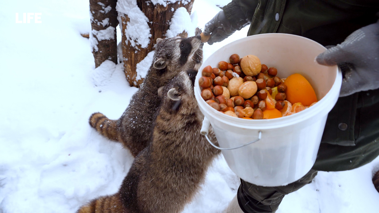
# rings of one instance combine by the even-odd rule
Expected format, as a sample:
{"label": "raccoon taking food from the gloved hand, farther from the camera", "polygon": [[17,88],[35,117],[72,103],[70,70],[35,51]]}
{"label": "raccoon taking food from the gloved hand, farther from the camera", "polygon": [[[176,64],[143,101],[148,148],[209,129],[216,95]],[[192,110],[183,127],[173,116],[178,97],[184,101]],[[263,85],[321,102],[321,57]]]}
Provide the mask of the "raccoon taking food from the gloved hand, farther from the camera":
{"label": "raccoon taking food from the gloved hand, farther from the camera", "polygon": [[106,138],[121,142],[134,157],[138,155],[151,137],[154,114],[161,102],[158,88],[182,70],[199,69],[203,45],[200,39],[200,35],[157,39],[153,63],[122,116],[111,120],[102,113],[93,113],[89,124]]}

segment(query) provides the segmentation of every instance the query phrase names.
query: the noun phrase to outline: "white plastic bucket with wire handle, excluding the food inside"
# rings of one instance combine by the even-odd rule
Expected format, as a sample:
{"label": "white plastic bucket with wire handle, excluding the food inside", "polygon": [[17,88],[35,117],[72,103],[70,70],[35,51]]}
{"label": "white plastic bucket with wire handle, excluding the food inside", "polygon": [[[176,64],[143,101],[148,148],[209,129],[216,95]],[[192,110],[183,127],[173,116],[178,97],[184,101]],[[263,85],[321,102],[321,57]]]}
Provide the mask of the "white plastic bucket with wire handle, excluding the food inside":
{"label": "white plastic bucket with wire handle, excluding the food inside", "polygon": [[[199,108],[213,127],[219,147],[247,146],[221,150],[229,167],[241,179],[261,186],[280,186],[304,176],[313,166],[323,135],[327,114],[340,93],[342,75],[338,66],[319,65],[315,58],[326,50],[321,44],[292,34],[269,33],[233,41],[210,55],[195,81]],[[256,55],[262,64],[276,67],[280,78],[302,74],[313,86],[318,102],[299,113],[265,120],[228,116],[211,108],[200,96],[201,70],[232,54]]]}

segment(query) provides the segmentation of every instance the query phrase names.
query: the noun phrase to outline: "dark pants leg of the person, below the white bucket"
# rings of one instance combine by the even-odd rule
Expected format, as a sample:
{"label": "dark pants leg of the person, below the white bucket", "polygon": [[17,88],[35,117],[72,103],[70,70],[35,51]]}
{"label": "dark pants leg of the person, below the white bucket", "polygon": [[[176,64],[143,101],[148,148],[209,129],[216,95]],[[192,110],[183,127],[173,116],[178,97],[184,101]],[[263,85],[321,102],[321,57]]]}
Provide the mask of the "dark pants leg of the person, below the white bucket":
{"label": "dark pants leg of the person, below the white bucket", "polygon": [[245,213],[271,213],[275,212],[283,197],[311,183],[317,171],[311,169],[300,180],[286,186],[265,187],[248,183],[241,179],[237,199]]}

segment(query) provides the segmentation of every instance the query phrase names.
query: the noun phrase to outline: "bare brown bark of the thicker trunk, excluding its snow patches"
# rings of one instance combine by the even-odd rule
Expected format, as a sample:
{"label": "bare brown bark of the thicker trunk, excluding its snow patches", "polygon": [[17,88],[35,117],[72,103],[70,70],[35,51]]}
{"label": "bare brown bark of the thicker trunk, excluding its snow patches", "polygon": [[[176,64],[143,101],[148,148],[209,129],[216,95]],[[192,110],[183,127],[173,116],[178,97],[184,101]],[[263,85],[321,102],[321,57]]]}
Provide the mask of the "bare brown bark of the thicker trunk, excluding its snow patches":
{"label": "bare brown bark of the thicker trunk, excluding its snow patches", "polygon": [[[119,0],[123,1],[123,0]],[[147,47],[141,47],[141,45],[133,45],[130,41],[128,41],[127,37],[125,36],[124,30],[122,30],[122,55],[124,58],[124,72],[125,76],[127,78],[127,81],[129,82],[130,86],[139,87],[139,85],[142,83],[143,78],[136,79],[137,72],[136,72],[136,65],[141,62],[149,52],[153,50],[153,45],[155,44],[157,38],[164,38],[166,31],[169,29],[169,21],[171,20],[172,16],[174,15],[174,12],[177,8],[184,7],[186,8],[187,12],[190,14],[192,10],[194,0],[185,1],[183,3],[182,1],[177,1],[175,3],[169,3],[167,2],[166,6],[157,4],[154,5],[150,1],[145,0],[137,0],[137,5],[139,9],[145,14],[147,19],[149,19],[149,22],[147,24],[150,27],[150,41]],[[121,16],[121,29],[127,28],[127,23],[130,21],[130,18],[123,13],[120,13],[119,16]],[[187,32],[183,31],[183,33],[180,33],[178,36],[187,37]],[[126,41],[126,42],[125,42]]]}

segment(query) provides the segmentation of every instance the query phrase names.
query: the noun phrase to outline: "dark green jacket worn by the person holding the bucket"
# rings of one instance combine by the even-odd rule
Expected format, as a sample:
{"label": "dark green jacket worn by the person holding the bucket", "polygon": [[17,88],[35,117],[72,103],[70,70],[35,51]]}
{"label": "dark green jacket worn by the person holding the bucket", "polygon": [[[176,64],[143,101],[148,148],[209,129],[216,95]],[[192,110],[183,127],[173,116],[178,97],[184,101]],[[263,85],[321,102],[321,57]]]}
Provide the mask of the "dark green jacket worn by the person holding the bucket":
{"label": "dark green jacket worn by the person holding the bucket", "polygon": [[[248,35],[290,33],[336,45],[378,20],[378,0],[232,0],[223,8]],[[379,48],[379,47],[378,47]],[[343,171],[379,155],[379,89],[338,99],[330,111],[313,169]]]}

